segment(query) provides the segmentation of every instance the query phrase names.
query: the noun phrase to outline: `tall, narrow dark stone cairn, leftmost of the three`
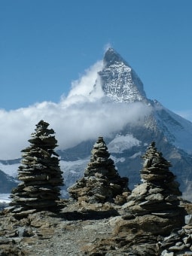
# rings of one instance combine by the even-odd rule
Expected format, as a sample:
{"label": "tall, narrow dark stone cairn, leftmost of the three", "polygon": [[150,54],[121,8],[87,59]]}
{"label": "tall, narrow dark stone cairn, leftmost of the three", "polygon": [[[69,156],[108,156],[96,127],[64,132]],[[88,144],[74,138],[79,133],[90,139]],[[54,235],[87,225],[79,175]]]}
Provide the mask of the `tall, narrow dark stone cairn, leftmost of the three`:
{"label": "tall, narrow dark stone cairn, leftmost of the three", "polygon": [[22,181],[12,190],[10,212],[27,215],[41,210],[56,210],[63,185],[58,155],[54,152],[56,139],[49,123],[41,120],[29,139],[31,145],[23,149],[18,179]]}

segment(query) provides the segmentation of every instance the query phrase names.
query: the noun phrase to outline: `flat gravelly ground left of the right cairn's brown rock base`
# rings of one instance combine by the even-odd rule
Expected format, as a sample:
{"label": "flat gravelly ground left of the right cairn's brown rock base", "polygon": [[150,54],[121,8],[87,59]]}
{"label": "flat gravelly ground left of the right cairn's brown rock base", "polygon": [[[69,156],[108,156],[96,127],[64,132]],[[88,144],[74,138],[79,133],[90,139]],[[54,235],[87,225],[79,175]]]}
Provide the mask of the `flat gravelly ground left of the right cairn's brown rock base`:
{"label": "flat gravelly ground left of the right cairn's brown rock base", "polygon": [[67,205],[59,214],[37,212],[16,219],[1,215],[0,255],[85,255],[98,239],[111,236],[110,220],[118,215],[110,205],[84,209]]}

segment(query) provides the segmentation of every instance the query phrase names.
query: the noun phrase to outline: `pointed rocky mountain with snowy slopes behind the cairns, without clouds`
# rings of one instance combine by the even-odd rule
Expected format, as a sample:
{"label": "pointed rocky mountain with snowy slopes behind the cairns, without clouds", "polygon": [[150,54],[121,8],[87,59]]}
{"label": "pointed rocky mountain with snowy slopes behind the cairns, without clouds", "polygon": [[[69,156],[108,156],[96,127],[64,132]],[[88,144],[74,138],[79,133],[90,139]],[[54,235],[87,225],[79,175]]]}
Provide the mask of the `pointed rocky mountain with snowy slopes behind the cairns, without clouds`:
{"label": "pointed rocky mountain with snowy slopes behind the cairns, without clouds", "polygon": [[[102,93],[98,98],[96,93],[100,90]],[[103,107],[112,104],[119,111],[126,111],[126,107],[130,106],[130,111],[133,112],[133,120],[129,120],[122,129],[108,133],[104,137],[120,175],[129,178],[130,189],[140,183],[141,155],[151,141],[154,141],[157,148],[163,152],[163,156],[171,161],[172,172],[181,184],[180,190],[184,197],[191,200],[188,191],[192,187],[192,123],[169,111],[157,100],[148,99],[136,72],[112,48],[105,52],[102,70],[98,72],[95,83],[90,86],[90,97],[94,98],[94,95],[94,100]],[[138,118],[134,117],[136,108],[140,111]],[[129,114],[128,109],[127,115]],[[101,125],[103,118],[105,117],[101,116]],[[111,119],[113,118],[111,115]],[[64,197],[66,188],[81,178],[90,160],[94,142],[95,140],[82,141],[75,147],[58,151],[66,184],[63,187]],[[1,163],[0,169],[8,173],[8,166],[5,166],[4,162]],[[18,162],[7,163],[9,170],[12,169],[15,175]]]}

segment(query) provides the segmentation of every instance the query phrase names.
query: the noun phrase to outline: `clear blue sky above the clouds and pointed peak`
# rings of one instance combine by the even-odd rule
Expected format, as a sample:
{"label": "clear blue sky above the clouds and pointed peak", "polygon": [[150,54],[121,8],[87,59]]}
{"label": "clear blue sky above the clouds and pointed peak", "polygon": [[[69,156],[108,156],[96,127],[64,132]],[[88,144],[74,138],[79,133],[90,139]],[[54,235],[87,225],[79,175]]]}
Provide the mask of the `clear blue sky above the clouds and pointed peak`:
{"label": "clear blue sky above the clouds and pointed peak", "polygon": [[142,79],[149,99],[187,113],[191,10],[190,0],[2,0],[0,108],[59,102],[111,44]]}

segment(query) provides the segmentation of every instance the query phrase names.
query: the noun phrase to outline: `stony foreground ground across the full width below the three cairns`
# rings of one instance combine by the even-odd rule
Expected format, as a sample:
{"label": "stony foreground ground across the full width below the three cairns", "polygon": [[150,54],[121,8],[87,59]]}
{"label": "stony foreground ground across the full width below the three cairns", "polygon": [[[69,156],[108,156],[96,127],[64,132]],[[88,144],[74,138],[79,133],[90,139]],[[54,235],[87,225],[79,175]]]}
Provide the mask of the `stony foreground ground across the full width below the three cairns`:
{"label": "stony foreground ground across the full width below the three cairns", "polygon": [[[163,236],[152,235],[150,229],[148,232],[136,230],[134,224],[129,226],[126,220],[129,217],[123,215],[121,206],[70,201],[62,205],[60,213],[36,212],[20,219],[2,211],[0,255],[192,255],[190,249],[186,254],[177,254],[176,249],[175,254],[169,251],[160,254],[158,247]],[[190,212],[190,204],[186,207]],[[186,228],[191,230],[192,227],[187,225]],[[190,236],[184,233],[183,239],[191,245]],[[179,239],[172,235],[167,239],[168,244]],[[164,242],[163,246],[168,245]]]}

